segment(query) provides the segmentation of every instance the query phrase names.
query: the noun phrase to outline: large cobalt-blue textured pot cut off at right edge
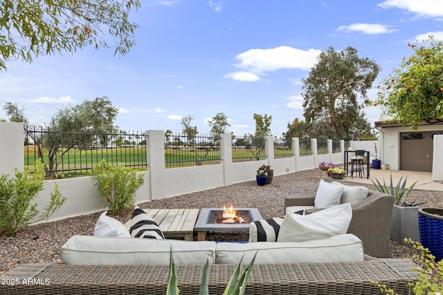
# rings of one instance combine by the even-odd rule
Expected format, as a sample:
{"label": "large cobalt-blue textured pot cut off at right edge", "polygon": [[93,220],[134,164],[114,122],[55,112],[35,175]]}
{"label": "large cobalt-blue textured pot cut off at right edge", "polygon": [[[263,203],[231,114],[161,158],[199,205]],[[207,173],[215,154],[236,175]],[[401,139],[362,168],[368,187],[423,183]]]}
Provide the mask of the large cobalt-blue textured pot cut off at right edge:
{"label": "large cobalt-blue textured pot cut off at right edge", "polygon": [[443,259],[443,208],[419,208],[420,242],[428,248],[435,260]]}

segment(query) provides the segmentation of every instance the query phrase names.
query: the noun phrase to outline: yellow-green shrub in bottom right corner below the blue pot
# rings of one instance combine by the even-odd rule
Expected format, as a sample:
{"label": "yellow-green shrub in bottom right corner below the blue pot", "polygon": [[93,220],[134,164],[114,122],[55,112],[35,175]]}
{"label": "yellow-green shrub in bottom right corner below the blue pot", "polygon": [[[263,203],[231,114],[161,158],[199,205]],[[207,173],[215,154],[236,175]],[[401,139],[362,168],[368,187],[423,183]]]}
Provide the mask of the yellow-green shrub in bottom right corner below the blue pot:
{"label": "yellow-green shrub in bottom right corner below the blue pot", "polygon": [[[413,255],[413,261],[420,267],[414,267],[413,270],[417,272],[417,280],[414,283],[408,283],[413,287],[414,294],[438,294],[443,291],[443,260],[439,262],[435,261],[435,256],[431,252],[423,247],[419,242],[414,242],[408,238],[404,239],[404,242],[412,244],[417,253]],[[388,288],[384,284],[378,282],[371,282],[373,285],[377,285],[381,292],[395,295],[393,289]]]}

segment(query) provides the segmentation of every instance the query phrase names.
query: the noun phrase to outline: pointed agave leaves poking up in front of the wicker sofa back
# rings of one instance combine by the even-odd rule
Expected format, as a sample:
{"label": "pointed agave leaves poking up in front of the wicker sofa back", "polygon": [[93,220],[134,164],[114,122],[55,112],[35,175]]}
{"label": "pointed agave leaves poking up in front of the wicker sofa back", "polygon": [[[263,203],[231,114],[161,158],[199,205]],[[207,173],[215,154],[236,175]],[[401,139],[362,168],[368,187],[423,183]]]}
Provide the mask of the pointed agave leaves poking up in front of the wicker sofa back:
{"label": "pointed agave leaves poking up in front of the wicker sofa back", "polygon": [[[233,276],[230,277],[228,285],[223,292],[223,295],[243,295],[246,287],[246,282],[248,281],[249,274],[251,274],[251,269],[255,261],[255,253],[254,257],[251,259],[248,267],[246,267],[242,276],[240,276],[241,267],[242,267],[242,259],[240,259],[237,267],[235,267],[235,271]],[[179,294],[180,290],[177,287],[177,274],[175,273],[175,264],[174,258],[172,258],[172,251],[170,254],[170,263],[169,263],[169,280],[168,280],[168,289],[166,290],[167,295],[176,295]],[[206,260],[205,268],[203,271],[203,278],[201,279],[200,285],[200,295],[209,295],[209,287],[208,287],[208,260]]]}

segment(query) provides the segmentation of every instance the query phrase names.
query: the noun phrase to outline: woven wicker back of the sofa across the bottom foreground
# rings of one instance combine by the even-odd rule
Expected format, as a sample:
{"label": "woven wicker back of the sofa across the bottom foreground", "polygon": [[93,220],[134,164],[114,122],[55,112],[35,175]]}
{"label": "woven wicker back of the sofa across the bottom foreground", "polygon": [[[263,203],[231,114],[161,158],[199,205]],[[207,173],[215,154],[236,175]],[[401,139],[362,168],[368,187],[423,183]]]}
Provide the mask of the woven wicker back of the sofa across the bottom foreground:
{"label": "woven wicker back of the sofa across the bottom foreground", "polygon": [[[253,265],[245,294],[380,294],[370,280],[413,294],[408,259]],[[246,267],[246,266],[245,266]],[[203,265],[178,265],[180,294],[199,294]],[[235,265],[210,265],[209,292],[223,294]],[[166,294],[168,266],[26,264],[1,276],[0,294]],[[12,283],[15,282],[15,283]]]}

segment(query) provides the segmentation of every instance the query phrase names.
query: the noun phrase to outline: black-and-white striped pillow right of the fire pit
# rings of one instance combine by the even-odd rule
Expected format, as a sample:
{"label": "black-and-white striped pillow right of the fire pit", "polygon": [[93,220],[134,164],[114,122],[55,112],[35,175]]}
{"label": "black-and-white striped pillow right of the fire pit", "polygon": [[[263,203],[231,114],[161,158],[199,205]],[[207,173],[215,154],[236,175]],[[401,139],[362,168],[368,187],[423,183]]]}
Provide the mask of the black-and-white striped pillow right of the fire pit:
{"label": "black-and-white striped pillow right of the fire pit", "polygon": [[249,242],[276,242],[283,218],[269,218],[249,224]]}

